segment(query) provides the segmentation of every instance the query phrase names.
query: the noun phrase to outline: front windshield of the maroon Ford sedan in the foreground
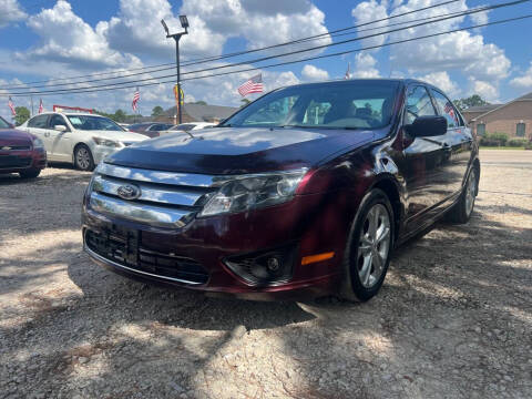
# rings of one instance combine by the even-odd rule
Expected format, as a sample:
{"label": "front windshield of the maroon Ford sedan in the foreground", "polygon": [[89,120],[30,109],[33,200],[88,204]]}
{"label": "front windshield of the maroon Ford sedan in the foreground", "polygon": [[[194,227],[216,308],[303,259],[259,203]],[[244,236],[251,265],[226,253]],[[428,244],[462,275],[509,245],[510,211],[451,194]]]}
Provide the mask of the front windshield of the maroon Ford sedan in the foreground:
{"label": "front windshield of the maroon Ford sedan in the foreground", "polygon": [[374,80],[290,86],[266,94],[221,126],[383,127],[391,121],[398,86]]}

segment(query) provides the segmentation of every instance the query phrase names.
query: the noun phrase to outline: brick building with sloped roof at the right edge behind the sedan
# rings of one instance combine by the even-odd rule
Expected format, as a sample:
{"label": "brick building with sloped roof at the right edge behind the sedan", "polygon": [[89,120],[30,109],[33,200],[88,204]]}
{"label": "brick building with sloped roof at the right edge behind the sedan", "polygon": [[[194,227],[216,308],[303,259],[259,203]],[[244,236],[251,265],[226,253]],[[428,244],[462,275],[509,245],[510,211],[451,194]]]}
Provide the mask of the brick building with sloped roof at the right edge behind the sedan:
{"label": "brick building with sloped roof at the right edge behind the sedan", "polygon": [[498,132],[532,140],[532,93],[505,104],[471,106],[462,114],[479,136]]}

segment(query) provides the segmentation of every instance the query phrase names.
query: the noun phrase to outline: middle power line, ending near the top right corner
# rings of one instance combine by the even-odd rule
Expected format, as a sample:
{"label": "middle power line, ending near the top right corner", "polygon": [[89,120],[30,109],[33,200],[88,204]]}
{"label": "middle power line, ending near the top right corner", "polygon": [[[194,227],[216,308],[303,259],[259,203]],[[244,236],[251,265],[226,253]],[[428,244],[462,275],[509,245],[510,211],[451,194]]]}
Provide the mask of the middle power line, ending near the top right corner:
{"label": "middle power line, ending near the top right corner", "polygon": [[[350,43],[350,42],[354,42],[354,41],[370,39],[370,38],[375,38],[375,37],[378,37],[378,35],[390,34],[390,33],[395,33],[395,32],[398,32],[398,31],[426,25],[426,24],[429,24],[429,23],[437,23],[437,22],[441,22],[441,21],[452,19],[452,18],[468,16],[468,14],[472,14],[472,13],[477,13],[477,12],[483,12],[485,10],[491,10],[491,9],[497,9],[497,8],[515,6],[515,4],[528,2],[528,1],[530,1],[530,0],[516,0],[516,1],[500,3],[500,4],[495,4],[495,6],[488,6],[488,7],[484,7],[482,9],[467,10],[467,11],[463,11],[463,12],[460,12],[460,13],[453,13],[452,16],[440,18],[440,19],[437,19],[437,20],[419,22],[419,23],[415,23],[415,24],[411,24],[411,25],[388,30],[388,31],[385,31],[385,32],[372,33],[372,34],[368,34],[368,35],[365,35],[365,37],[358,37],[358,38],[348,39],[348,40],[344,40],[344,41],[339,41],[339,42],[335,42],[335,43],[323,44],[323,45],[318,45],[318,47],[313,47],[313,48],[307,48],[307,49],[303,49],[303,50],[291,51],[291,52],[288,52],[288,53],[263,57],[263,58],[259,58],[259,59],[242,61],[242,62],[238,62],[238,63],[233,63],[233,64],[227,64],[227,65],[218,65],[218,66],[212,66],[212,68],[206,68],[206,69],[202,69],[202,70],[188,71],[188,72],[184,72],[182,74],[187,75],[187,74],[194,74],[194,73],[209,72],[209,71],[221,70],[221,69],[227,69],[227,68],[244,65],[244,64],[248,64],[248,63],[267,61],[267,60],[282,58],[282,57],[300,54],[303,52],[315,51],[315,50],[318,50],[318,49],[324,49],[324,48],[329,48],[329,47],[334,47],[334,45]],[[21,95],[21,94],[28,95],[28,94],[43,94],[43,93],[58,93],[58,94],[60,94],[60,93],[69,93],[69,92],[72,92],[72,91],[98,89],[98,88],[109,88],[111,90],[111,86],[117,89],[119,86],[124,85],[124,84],[127,85],[127,84],[131,84],[131,83],[150,82],[150,81],[155,81],[155,80],[166,79],[166,78],[173,78],[173,76],[175,76],[175,74],[167,74],[167,75],[162,75],[162,76],[140,79],[140,80],[135,80],[134,82],[115,82],[115,83],[95,84],[95,85],[91,85],[91,86],[88,86],[88,88],[54,89],[54,90],[44,90],[44,91],[40,91],[40,92],[39,91],[37,91],[37,92],[29,92],[29,91],[28,92],[25,92],[25,91],[24,92],[13,92],[13,93],[11,93],[11,95]],[[183,80],[183,81],[185,81],[185,80]],[[69,83],[69,84],[76,84],[76,83]],[[31,90],[31,89],[29,89],[29,90]]]}

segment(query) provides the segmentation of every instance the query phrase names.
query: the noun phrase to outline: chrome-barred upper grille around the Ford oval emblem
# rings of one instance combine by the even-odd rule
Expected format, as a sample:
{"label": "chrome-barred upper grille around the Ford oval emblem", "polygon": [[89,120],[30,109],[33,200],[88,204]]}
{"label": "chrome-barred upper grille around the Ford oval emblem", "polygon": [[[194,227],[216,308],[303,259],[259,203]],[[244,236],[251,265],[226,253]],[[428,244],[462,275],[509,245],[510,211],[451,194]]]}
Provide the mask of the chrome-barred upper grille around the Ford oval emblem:
{"label": "chrome-barred upper grille around the Ford oval emblem", "polygon": [[[216,191],[216,176],[147,171],[101,163],[91,183],[90,207],[96,212],[158,227],[183,227]],[[137,195],[121,196],[133,186]]]}

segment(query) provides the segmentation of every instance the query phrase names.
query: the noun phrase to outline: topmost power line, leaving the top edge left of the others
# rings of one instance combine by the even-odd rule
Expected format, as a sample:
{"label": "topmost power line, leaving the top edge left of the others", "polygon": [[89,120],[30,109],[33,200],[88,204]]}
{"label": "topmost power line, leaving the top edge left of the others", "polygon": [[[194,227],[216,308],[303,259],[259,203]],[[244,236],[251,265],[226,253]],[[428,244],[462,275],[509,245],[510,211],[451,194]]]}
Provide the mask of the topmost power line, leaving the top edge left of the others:
{"label": "topmost power line, leaving the top edge left of the others", "polygon": [[[328,37],[328,35],[334,35],[335,33],[338,33],[338,32],[345,32],[345,31],[347,31],[347,30],[352,30],[352,29],[357,29],[357,28],[360,28],[360,27],[366,27],[366,25],[368,25],[368,24],[383,22],[383,21],[391,20],[391,19],[395,19],[395,18],[400,18],[400,17],[405,17],[405,16],[412,14],[412,13],[416,13],[416,12],[426,11],[426,10],[429,10],[429,9],[432,9],[432,8],[437,8],[437,7],[441,7],[441,6],[447,6],[447,4],[449,4],[449,3],[453,3],[453,2],[457,2],[457,1],[461,1],[461,0],[449,0],[449,1],[444,1],[444,2],[438,3],[438,4],[432,4],[432,6],[423,7],[423,8],[420,8],[420,9],[416,9],[416,10],[402,12],[402,13],[397,14],[397,16],[390,16],[390,17],[381,18],[381,19],[378,19],[378,20],[375,20],[375,21],[369,21],[369,22],[365,22],[365,23],[360,23],[360,24],[356,24],[356,25],[351,25],[351,27],[347,27],[347,28],[341,28],[341,29],[337,29],[337,30],[334,30],[334,31],[330,31],[330,32],[327,32],[327,33],[315,34],[315,35],[311,35],[311,37],[306,37],[306,38],[301,38],[301,39],[296,39],[296,40],[288,41],[288,42],[284,42],[284,43],[267,45],[267,47],[263,47],[263,48],[258,48],[258,49],[252,49],[252,50],[246,50],[246,51],[238,51],[238,52],[233,52],[233,53],[229,53],[229,54],[223,54],[223,55],[217,55],[217,57],[195,59],[195,60],[193,59],[193,60],[190,60],[188,62],[183,63],[183,66],[193,65],[193,64],[198,64],[198,63],[205,63],[205,62],[212,62],[212,61],[218,61],[218,60],[222,60],[222,59],[233,58],[233,57],[237,57],[237,55],[242,55],[242,54],[247,54],[247,53],[252,53],[252,52],[269,50],[269,49],[274,49],[274,48],[278,48],[278,47],[283,47],[283,45],[288,45],[288,44],[294,44],[294,43],[300,43],[300,42],[310,41],[310,40],[314,40],[314,39],[320,38],[320,37],[321,37],[321,38],[326,38],[326,37]],[[385,27],[382,27],[382,28],[385,28]],[[23,88],[23,86],[25,86],[25,85],[35,84],[35,83],[47,83],[47,82],[52,82],[52,81],[53,81],[53,82],[57,82],[57,81],[65,81],[65,80],[70,80],[70,79],[79,79],[79,78],[88,78],[88,76],[99,76],[99,75],[119,73],[119,72],[122,72],[122,71],[123,71],[123,72],[130,72],[130,71],[147,70],[147,69],[160,68],[160,66],[167,66],[167,65],[173,65],[173,66],[175,66],[175,62],[164,63],[164,64],[158,64],[158,65],[152,65],[152,66],[142,66],[142,68],[135,68],[135,69],[129,69],[129,70],[126,70],[126,69],[121,69],[121,70],[115,70],[115,71],[100,72],[100,73],[78,75],[78,76],[70,76],[70,78],[59,78],[59,79],[48,79],[48,80],[34,81],[34,82],[24,82],[23,84],[8,85],[8,86],[3,86],[3,88],[0,88],[0,89],[3,89],[3,90],[7,90],[7,89],[16,89],[16,88],[21,88],[21,86]],[[165,69],[163,69],[163,70],[170,70],[170,69],[173,69],[173,66],[165,68]],[[158,71],[163,71],[163,70],[150,71],[150,72],[158,72]],[[146,72],[146,73],[147,73],[147,72]],[[139,74],[142,74],[142,73],[139,73]],[[120,79],[120,78],[108,78],[108,79],[111,80],[111,79]],[[103,80],[103,79],[102,79],[102,80]],[[81,82],[80,82],[80,83],[81,83]]]}

